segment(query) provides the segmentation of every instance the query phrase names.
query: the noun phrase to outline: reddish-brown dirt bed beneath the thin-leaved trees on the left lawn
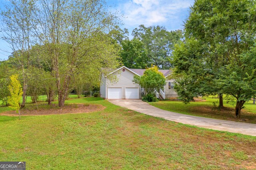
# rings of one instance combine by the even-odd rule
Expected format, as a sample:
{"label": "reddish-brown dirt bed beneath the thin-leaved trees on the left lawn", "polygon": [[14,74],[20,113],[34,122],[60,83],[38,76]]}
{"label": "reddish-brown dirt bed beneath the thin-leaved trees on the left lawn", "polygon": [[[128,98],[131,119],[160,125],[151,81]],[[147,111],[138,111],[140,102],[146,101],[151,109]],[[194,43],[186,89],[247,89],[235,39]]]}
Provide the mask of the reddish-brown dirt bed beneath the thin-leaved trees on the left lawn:
{"label": "reddish-brown dirt bed beneath the thin-leaved trees on the left lawn", "polygon": [[[106,107],[102,105],[88,105],[88,104],[68,104],[64,107],[60,108],[58,105],[53,104],[52,106],[47,105],[39,105],[38,109],[35,108],[36,105],[33,107],[28,107],[26,109],[21,109],[21,115],[61,115],[61,114],[69,114],[69,113],[89,113],[94,111],[101,111]],[[6,116],[18,116],[15,111],[5,111],[0,113],[0,115]]]}

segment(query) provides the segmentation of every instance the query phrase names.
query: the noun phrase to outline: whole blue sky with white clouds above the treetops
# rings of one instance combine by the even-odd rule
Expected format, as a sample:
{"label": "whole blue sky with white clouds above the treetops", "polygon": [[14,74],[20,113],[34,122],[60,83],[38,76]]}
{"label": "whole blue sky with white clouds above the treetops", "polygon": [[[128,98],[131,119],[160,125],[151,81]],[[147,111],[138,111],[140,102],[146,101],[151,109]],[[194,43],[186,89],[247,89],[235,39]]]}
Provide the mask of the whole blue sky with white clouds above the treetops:
{"label": "whole blue sky with white clouds above the treetops", "polygon": [[[0,0],[0,8],[7,0]],[[132,30],[143,24],[146,27],[160,25],[168,31],[183,29],[183,22],[189,15],[194,0],[107,0],[110,10],[123,15],[121,28]],[[8,43],[0,39],[0,60],[11,54]]]}

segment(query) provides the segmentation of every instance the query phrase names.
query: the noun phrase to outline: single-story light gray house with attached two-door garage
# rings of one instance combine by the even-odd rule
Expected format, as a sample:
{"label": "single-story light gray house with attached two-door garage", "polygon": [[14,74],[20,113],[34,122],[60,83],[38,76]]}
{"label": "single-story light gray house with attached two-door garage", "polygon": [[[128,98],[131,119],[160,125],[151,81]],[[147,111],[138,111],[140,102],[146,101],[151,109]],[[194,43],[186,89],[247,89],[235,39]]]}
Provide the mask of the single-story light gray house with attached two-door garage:
{"label": "single-story light gray house with attached two-door garage", "polygon": [[[134,75],[142,76],[146,69],[133,69],[122,66],[107,75],[101,75],[100,97],[106,99],[140,99],[143,88],[132,82]],[[158,70],[165,77],[171,74],[171,70]],[[116,80],[116,81],[114,81]],[[176,98],[177,93],[173,89],[174,80],[166,80],[166,85],[156,91],[156,96],[162,99]]]}

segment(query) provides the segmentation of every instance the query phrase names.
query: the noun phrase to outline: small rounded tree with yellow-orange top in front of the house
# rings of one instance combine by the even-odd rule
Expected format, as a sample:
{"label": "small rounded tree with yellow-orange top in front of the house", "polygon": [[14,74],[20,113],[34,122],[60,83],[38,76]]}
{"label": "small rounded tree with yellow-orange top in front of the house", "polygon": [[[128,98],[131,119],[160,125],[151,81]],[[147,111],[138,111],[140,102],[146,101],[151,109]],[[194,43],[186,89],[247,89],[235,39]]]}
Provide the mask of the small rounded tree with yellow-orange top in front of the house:
{"label": "small rounded tree with yellow-orange top in front of the house", "polygon": [[159,90],[166,84],[166,79],[158,71],[157,66],[147,68],[142,76],[135,75],[132,81],[144,88],[145,95],[154,94],[155,90]]}

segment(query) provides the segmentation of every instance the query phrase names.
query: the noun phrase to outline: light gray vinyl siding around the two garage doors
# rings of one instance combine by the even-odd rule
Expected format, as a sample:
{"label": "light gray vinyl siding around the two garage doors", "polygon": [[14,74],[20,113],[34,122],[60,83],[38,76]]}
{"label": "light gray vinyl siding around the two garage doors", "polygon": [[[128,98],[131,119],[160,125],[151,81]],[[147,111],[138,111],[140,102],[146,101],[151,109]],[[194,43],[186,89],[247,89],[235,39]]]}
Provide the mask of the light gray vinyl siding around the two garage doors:
{"label": "light gray vinyl siding around the two garage doors", "polygon": [[110,80],[108,80],[108,78],[106,79],[106,98],[108,98],[108,88],[109,87],[121,87],[122,88],[122,99],[125,99],[125,88],[126,87],[139,88],[139,98],[140,98],[140,85],[134,84],[134,82],[132,82],[133,76],[135,74],[133,72],[127,70],[126,68],[124,68],[124,70],[125,70],[124,72],[122,70],[123,69],[120,69],[113,73],[113,75],[115,75],[117,78],[115,83],[110,82]]}

